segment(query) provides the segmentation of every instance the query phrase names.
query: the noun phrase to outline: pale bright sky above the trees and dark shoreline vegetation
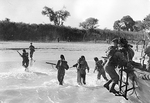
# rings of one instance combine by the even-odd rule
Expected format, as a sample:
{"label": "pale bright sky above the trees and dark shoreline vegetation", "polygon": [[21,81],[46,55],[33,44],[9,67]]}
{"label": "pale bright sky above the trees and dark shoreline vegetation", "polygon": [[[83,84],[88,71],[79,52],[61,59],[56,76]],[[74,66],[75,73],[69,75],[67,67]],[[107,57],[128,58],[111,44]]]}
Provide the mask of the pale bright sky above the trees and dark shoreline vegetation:
{"label": "pale bright sky above the trees and dark shoreline vegetation", "polygon": [[98,28],[113,29],[123,16],[137,21],[150,14],[150,0],[0,0],[0,20],[48,24],[49,18],[41,14],[44,6],[54,11],[65,7],[71,16],[64,25],[76,28],[89,17],[98,19]]}

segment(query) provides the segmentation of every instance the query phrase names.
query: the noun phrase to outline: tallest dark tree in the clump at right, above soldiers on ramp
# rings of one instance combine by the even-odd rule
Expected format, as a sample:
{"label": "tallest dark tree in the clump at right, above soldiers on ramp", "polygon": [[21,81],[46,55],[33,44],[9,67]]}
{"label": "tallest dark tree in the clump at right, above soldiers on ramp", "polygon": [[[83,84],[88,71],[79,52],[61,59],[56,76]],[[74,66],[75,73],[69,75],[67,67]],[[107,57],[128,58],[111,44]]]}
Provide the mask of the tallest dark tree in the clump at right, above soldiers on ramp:
{"label": "tallest dark tree in the clump at right, above soldiers on ramp", "polygon": [[129,31],[129,30],[133,31],[133,26],[135,24],[135,21],[129,15],[123,16],[121,21],[125,23],[127,31]]}

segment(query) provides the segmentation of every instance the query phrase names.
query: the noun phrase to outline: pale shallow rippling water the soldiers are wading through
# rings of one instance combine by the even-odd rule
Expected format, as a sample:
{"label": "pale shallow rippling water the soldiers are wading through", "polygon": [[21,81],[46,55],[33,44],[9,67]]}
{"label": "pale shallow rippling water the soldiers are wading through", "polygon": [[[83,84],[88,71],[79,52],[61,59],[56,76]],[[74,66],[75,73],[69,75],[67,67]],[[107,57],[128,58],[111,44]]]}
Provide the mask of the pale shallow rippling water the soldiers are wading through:
{"label": "pale shallow rippling water the soldiers are wading through", "polygon": [[[37,48],[34,61],[30,60],[29,71],[21,66],[22,48],[28,48],[28,42],[0,43],[0,103],[131,103],[123,97],[109,93],[103,84],[105,80],[96,80],[94,57],[105,56],[108,44],[94,43],[33,43]],[[29,52],[29,50],[27,50]],[[64,54],[69,66],[76,63],[81,55],[86,57],[90,67],[87,73],[87,85],[76,83],[76,68],[66,71],[64,85],[58,85],[55,66],[60,54]],[[139,56],[139,54],[137,54]],[[137,56],[137,58],[138,58]],[[136,59],[137,59],[136,58]],[[136,98],[133,98],[136,101]]]}

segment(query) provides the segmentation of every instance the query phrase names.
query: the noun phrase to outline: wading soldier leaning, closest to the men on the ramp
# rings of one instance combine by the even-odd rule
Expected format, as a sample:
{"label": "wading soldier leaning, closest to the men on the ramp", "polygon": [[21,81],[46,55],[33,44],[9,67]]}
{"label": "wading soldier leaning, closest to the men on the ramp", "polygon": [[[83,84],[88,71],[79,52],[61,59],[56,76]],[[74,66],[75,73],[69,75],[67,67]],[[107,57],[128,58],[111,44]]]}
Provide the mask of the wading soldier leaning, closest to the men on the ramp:
{"label": "wading soldier leaning, closest to the men on the ramp", "polygon": [[94,58],[94,61],[95,61],[95,69],[94,69],[94,73],[95,71],[97,70],[98,74],[97,74],[97,80],[100,80],[101,78],[101,75],[103,76],[103,78],[108,81],[107,77],[106,77],[106,74],[105,74],[105,70],[104,70],[104,67],[103,67],[103,61],[102,60],[99,60],[97,57]]}

